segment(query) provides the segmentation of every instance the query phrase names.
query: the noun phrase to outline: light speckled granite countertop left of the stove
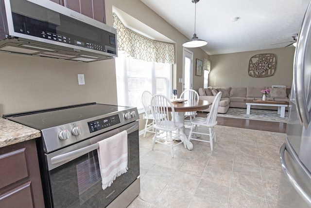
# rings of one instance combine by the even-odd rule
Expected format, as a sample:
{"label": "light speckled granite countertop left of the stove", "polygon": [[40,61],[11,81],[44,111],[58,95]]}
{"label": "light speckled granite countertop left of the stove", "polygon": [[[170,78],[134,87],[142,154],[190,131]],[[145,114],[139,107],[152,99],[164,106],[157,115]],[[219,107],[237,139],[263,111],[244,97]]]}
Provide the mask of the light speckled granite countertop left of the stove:
{"label": "light speckled granite countertop left of the stove", "polygon": [[41,137],[39,130],[0,118],[0,148]]}

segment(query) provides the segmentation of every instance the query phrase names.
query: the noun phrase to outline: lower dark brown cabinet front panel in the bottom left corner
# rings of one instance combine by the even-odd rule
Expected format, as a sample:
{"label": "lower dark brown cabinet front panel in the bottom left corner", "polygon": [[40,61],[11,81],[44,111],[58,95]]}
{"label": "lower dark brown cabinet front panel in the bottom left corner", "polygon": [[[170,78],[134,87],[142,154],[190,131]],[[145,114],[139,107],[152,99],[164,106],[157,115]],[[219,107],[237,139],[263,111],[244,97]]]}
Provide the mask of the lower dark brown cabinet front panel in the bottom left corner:
{"label": "lower dark brown cabinet front panel in the bottom left corner", "polygon": [[15,189],[0,195],[1,208],[33,208],[31,182],[22,184]]}

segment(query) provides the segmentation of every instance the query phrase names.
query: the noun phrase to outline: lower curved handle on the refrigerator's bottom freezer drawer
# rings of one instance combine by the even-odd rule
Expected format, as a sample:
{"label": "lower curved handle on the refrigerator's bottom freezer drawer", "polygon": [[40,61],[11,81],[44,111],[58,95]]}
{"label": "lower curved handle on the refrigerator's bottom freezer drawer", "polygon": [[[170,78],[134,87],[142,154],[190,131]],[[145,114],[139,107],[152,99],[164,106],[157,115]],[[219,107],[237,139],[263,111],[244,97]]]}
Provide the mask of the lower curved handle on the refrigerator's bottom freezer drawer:
{"label": "lower curved handle on the refrigerator's bottom freezer drawer", "polygon": [[[280,161],[281,161],[281,168],[283,170],[283,172],[285,173],[285,176],[287,177],[287,179],[289,180],[289,182],[293,185],[294,189],[297,191],[297,193],[301,196],[302,199],[304,199],[304,201],[311,207],[311,198],[310,196],[304,191],[304,189],[302,189],[302,187],[297,183],[297,180],[294,178],[294,176],[291,174],[291,172],[288,170],[288,167],[286,165],[286,161],[285,161],[285,150],[286,150],[286,144],[284,143],[281,146],[280,149]],[[288,151],[289,155],[292,157],[295,157],[295,155],[293,155],[290,151]],[[297,160],[299,165],[300,164],[300,160]]]}

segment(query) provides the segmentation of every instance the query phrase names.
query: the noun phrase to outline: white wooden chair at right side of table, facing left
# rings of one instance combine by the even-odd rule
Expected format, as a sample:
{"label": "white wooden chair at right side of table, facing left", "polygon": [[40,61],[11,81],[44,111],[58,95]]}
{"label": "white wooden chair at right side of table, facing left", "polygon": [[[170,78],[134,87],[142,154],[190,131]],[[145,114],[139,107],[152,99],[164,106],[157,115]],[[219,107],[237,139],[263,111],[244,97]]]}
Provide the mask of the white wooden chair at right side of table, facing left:
{"label": "white wooden chair at right side of table, facing left", "polygon": [[[188,140],[197,140],[197,141],[202,141],[202,142],[209,142],[210,143],[210,150],[213,151],[213,139],[216,142],[216,133],[215,133],[215,126],[217,125],[217,112],[218,112],[218,107],[219,107],[219,101],[222,97],[222,92],[219,92],[214,101],[213,104],[210,108],[210,112],[207,114],[206,118],[202,117],[195,117],[191,121],[191,128],[190,128],[190,133],[188,136]],[[205,132],[199,132],[198,126],[205,126],[208,128],[208,133]],[[197,139],[198,134],[203,134],[203,135],[208,135],[209,136],[209,141],[202,139]]]}

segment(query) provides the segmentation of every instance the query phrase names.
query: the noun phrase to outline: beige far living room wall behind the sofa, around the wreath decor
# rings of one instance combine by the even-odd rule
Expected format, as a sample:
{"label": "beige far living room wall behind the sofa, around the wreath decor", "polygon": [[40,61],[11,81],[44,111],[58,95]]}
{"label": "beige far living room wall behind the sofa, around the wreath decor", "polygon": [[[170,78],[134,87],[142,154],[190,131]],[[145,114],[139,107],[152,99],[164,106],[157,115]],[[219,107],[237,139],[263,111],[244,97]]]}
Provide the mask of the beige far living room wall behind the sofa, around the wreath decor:
{"label": "beige far living room wall behind the sofa, around the wreath decor", "polygon": [[[208,86],[271,86],[291,87],[293,80],[294,47],[210,56],[211,72]],[[248,75],[249,59],[257,54],[275,54],[274,76],[255,78]]]}

